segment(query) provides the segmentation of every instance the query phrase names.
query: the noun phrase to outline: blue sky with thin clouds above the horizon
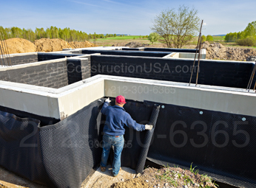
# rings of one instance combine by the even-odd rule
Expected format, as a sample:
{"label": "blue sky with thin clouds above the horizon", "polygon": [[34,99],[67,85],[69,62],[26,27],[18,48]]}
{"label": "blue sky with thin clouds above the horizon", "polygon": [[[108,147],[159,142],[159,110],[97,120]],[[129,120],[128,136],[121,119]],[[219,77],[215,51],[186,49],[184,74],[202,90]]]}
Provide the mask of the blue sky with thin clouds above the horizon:
{"label": "blue sky with thin clouds above the horizon", "polygon": [[149,35],[161,10],[195,7],[203,19],[203,35],[239,32],[256,21],[256,0],[0,0],[0,26],[36,29],[70,27],[89,33]]}

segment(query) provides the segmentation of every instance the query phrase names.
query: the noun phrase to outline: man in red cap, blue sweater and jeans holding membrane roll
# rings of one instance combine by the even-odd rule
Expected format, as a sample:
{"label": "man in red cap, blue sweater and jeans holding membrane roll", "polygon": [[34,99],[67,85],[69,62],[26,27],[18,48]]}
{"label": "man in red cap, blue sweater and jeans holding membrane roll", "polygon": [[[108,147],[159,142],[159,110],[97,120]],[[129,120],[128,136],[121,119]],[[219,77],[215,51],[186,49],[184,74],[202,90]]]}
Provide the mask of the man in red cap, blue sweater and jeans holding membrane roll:
{"label": "man in red cap, blue sweater and jeans holding membrane roll", "polygon": [[101,113],[107,116],[103,132],[101,171],[104,172],[109,158],[110,148],[114,147],[114,160],[112,164],[112,175],[117,176],[121,167],[121,152],[124,147],[124,126],[133,128],[137,131],[151,130],[152,125],[141,125],[135,122],[132,117],[124,110],[124,96],[119,95],[115,98],[115,105],[109,106],[110,98],[105,100]]}

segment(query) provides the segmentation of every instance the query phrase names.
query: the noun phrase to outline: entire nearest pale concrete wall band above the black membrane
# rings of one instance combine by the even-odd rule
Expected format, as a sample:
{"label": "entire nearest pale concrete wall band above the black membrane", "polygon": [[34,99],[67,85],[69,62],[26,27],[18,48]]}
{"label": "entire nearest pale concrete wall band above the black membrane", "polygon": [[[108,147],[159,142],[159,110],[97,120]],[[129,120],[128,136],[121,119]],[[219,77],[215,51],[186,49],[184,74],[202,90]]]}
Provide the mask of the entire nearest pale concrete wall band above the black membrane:
{"label": "entire nearest pale concrete wall band above the black membrane", "polygon": [[[238,91],[236,91],[238,90]],[[201,88],[184,83],[97,75],[63,88],[43,88],[0,81],[0,106],[64,119],[101,97],[166,103],[209,111],[256,116],[255,93]]]}

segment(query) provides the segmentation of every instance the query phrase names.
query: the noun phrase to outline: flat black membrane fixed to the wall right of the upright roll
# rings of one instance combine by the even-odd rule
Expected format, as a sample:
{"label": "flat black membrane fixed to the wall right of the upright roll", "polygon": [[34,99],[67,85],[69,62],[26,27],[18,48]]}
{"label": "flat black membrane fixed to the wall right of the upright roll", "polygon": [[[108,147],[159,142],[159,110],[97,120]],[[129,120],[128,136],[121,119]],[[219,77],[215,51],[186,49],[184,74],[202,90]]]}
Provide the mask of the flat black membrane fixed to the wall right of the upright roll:
{"label": "flat black membrane fixed to the wall right of the upright roll", "polygon": [[256,187],[255,116],[158,105],[164,108],[159,112],[147,159],[179,167],[193,162],[199,173],[220,182]]}

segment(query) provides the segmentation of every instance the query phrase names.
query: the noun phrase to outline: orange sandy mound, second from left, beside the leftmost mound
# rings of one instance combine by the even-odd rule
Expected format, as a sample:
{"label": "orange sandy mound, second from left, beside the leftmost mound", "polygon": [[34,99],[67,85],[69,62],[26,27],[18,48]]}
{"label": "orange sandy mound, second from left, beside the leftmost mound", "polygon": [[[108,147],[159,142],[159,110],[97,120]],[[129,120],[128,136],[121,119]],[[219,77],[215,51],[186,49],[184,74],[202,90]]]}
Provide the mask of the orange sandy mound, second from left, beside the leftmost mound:
{"label": "orange sandy mound, second from left, beside the leftmost mound", "polygon": [[71,48],[69,43],[59,38],[41,38],[34,43],[36,45],[36,52],[55,52]]}

